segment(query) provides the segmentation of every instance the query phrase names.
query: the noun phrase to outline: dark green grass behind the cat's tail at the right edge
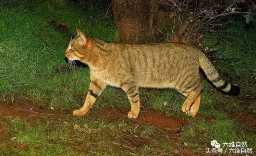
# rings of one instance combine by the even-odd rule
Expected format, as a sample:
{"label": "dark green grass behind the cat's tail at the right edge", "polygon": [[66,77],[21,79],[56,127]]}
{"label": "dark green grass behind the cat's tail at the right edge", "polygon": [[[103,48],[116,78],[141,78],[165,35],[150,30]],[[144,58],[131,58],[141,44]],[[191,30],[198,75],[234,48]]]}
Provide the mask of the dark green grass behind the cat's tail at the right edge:
{"label": "dark green grass behind the cat's tail at the right edge", "polygon": [[255,29],[246,29],[243,21],[230,23],[227,29],[217,31],[216,35],[205,39],[210,41],[219,39],[220,42],[214,47],[217,49],[219,58],[216,64],[223,73],[228,74],[236,82],[255,83],[256,78],[256,38]]}

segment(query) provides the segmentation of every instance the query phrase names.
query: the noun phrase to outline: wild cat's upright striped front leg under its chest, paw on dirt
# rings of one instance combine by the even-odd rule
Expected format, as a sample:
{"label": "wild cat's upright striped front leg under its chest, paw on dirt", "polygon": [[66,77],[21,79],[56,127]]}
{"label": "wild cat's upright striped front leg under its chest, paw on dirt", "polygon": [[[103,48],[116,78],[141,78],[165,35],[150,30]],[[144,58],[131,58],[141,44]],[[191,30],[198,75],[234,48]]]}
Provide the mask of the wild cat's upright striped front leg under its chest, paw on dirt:
{"label": "wild cat's upright striped front leg under its chest, paw on dirt", "polygon": [[126,92],[131,104],[131,111],[128,113],[128,117],[136,119],[140,113],[140,98],[137,82],[128,80],[120,86]]}

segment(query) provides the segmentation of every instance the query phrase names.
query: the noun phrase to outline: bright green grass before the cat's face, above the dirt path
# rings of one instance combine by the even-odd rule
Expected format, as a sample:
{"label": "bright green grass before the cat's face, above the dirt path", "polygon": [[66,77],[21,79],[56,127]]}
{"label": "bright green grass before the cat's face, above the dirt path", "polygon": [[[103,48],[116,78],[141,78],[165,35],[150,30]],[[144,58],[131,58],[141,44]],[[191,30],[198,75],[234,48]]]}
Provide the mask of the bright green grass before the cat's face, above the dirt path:
{"label": "bright green grass before the cat's face, above the dirt path", "polygon": [[[72,31],[79,26],[92,37],[101,35],[110,41],[118,39],[116,28],[112,21],[86,21],[88,14],[72,6],[74,4],[30,5],[37,8],[31,10],[20,4],[16,9],[2,7],[0,10],[5,19],[0,21],[3,27],[0,36],[2,98],[40,97],[54,107],[70,106],[75,102],[74,92],[87,91],[88,70],[55,71],[59,66],[67,66],[64,51],[68,41],[66,35],[48,23],[49,16],[70,23]],[[79,23],[80,20],[83,22]]]}

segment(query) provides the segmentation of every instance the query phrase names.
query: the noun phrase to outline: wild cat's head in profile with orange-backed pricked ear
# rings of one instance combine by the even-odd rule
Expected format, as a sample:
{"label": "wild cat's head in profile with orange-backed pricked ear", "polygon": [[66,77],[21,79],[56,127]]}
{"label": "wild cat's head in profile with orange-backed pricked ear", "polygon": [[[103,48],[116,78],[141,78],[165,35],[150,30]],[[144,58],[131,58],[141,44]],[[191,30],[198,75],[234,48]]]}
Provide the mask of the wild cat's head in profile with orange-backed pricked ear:
{"label": "wild cat's head in profile with orange-backed pricked ear", "polygon": [[86,62],[88,53],[92,53],[93,41],[80,29],[76,28],[77,36],[70,41],[65,51],[68,60],[79,60]]}

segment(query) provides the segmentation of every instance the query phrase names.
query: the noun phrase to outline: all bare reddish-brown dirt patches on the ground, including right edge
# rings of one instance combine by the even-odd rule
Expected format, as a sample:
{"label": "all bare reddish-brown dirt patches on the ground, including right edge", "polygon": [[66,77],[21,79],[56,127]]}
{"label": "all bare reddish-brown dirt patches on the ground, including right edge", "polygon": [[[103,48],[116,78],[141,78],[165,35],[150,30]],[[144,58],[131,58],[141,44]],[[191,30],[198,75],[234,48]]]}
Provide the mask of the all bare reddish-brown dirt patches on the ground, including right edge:
{"label": "all bare reddish-brown dirt patches on the ground, including right edge", "polygon": [[[254,96],[246,96],[238,98],[241,105],[249,107],[252,102],[254,102]],[[0,119],[8,117],[19,117],[21,119],[30,119],[30,122],[35,122],[38,117],[48,117],[53,119],[64,119],[65,116],[72,116],[73,108],[70,110],[51,110],[48,107],[42,106],[42,101],[38,99],[21,99],[15,100],[12,103],[0,102]],[[104,108],[94,108],[91,109],[86,118],[97,118],[97,119],[107,119],[109,121],[124,121],[132,123],[135,125],[151,125],[156,127],[159,131],[156,135],[162,138],[168,138],[175,140],[181,138],[180,127],[187,125],[184,119],[178,117],[166,117],[164,113],[157,112],[154,110],[141,109],[138,119],[127,118],[127,113],[129,109],[104,107]],[[245,113],[229,113],[231,119],[235,119],[241,125],[246,125],[248,131],[256,133],[256,117],[252,110],[248,110]],[[31,120],[32,119],[32,120]],[[213,122],[213,121],[212,121]],[[33,123],[31,123],[33,125]],[[10,138],[8,136],[8,131],[11,125],[0,125],[0,142],[8,141]],[[124,135],[129,135],[129,132]],[[129,140],[130,139],[130,140]],[[123,148],[132,147],[133,149],[128,149],[133,151],[136,148],[144,144],[148,144],[149,140],[147,137],[141,137],[134,135],[133,138],[126,138],[122,141]],[[21,146],[19,143],[14,144],[17,148],[24,148],[26,146]],[[76,148],[81,148],[81,146],[74,145]],[[177,145],[171,145],[174,153],[180,155],[185,154],[188,156],[198,155],[195,151],[190,151],[189,148],[178,147]],[[165,153],[160,153],[160,155],[166,155]],[[200,154],[199,154],[200,155]]]}

